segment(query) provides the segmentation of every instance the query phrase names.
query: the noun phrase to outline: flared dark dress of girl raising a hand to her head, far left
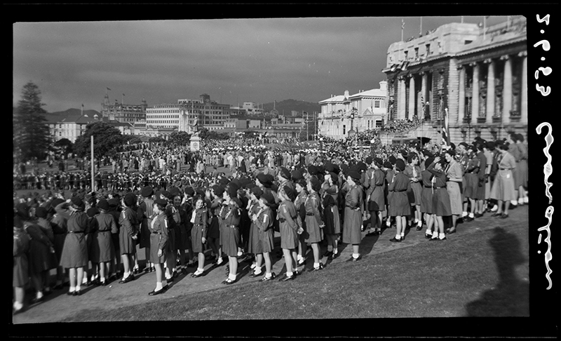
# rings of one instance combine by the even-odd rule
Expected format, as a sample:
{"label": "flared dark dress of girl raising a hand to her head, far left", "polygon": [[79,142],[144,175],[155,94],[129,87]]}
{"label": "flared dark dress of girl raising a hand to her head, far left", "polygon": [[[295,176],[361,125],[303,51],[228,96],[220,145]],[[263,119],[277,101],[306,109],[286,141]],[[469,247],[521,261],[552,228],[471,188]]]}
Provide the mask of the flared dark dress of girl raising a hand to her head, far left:
{"label": "flared dark dress of girl raising a hand to her head, far left", "polygon": [[60,256],[60,266],[66,269],[85,267],[88,265],[88,247],[86,236],[88,232],[88,215],[81,211],[70,213],[67,221],[68,234]]}

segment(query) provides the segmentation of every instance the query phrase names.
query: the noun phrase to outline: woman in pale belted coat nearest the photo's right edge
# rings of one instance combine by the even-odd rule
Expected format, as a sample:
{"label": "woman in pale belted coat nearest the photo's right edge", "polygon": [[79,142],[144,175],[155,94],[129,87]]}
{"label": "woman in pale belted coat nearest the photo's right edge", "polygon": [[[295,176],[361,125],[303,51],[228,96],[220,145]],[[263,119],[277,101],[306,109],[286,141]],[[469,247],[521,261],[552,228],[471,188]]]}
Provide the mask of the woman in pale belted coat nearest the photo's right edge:
{"label": "woman in pale belted coat nearest the photo's right edge", "polygon": [[504,219],[508,218],[508,206],[510,206],[510,201],[516,200],[517,198],[513,178],[513,170],[516,168],[516,161],[514,156],[508,152],[508,145],[501,145],[499,151],[501,153],[497,161],[499,170],[493,182],[493,187],[491,187],[490,196],[491,199],[496,199],[499,202],[499,208],[496,210],[493,217],[501,217]]}

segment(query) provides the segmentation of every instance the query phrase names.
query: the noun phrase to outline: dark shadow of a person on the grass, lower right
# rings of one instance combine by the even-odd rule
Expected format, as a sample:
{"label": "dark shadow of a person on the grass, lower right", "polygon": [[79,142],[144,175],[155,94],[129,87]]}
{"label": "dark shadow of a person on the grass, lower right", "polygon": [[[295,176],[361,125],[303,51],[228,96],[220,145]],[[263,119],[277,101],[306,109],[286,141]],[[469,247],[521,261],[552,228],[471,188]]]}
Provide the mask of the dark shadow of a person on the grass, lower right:
{"label": "dark shadow of a person on the grass, lower right", "polygon": [[515,267],[526,261],[520,241],[502,227],[489,240],[499,272],[499,283],[479,300],[466,305],[468,316],[529,316],[529,283],[518,279]]}

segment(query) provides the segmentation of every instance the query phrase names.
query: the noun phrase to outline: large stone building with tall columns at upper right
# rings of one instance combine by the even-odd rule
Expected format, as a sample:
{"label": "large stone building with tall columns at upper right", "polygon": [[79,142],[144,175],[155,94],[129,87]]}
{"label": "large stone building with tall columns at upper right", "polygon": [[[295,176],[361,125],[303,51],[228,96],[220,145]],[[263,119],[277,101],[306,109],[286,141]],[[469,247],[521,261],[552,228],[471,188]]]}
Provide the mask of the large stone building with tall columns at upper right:
{"label": "large stone building with tall columns at upper right", "polygon": [[448,112],[450,142],[527,137],[526,18],[492,27],[451,23],[388,48],[387,118],[422,119],[410,138],[440,139]]}

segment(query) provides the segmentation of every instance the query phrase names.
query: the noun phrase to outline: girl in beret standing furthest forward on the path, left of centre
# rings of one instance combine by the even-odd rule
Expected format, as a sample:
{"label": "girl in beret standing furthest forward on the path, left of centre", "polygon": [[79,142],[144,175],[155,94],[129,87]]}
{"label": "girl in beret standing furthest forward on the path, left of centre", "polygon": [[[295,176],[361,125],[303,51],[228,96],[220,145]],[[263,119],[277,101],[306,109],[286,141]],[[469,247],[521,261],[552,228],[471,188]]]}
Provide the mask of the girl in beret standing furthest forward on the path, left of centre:
{"label": "girl in beret standing furthest forward on the path, left of centre", "polygon": [[163,276],[162,264],[165,263],[165,250],[168,247],[168,217],[165,215],[167,201],[156,199],[152,205],[152,214],[148,218],[150,230],[150,262],[156,270],[156,288],[148,295],[158,295],[168,288]]}

